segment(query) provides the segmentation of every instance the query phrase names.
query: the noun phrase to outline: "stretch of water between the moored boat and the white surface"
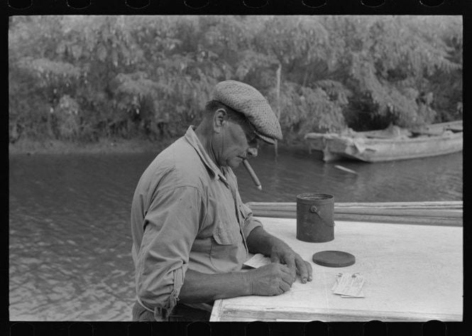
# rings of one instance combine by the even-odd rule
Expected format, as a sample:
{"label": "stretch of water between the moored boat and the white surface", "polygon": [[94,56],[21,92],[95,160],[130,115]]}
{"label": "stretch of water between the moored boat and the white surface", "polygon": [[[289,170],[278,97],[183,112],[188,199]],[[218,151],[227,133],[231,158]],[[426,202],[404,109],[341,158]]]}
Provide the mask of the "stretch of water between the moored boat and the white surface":
{"label": "stretch of water between the moored boat and the white surface", "polygon": [[[413,202],[462,199],[462,153],[387,163],[323,163],[306,151],[281,151],[275,165],[267,148],[251,161],[263,185],[254,189],[243,168],[236,174],[245,202],[295,202],[299,193],[329,193],[338,202]],[[335,168],[341,165],[358,174]]]}

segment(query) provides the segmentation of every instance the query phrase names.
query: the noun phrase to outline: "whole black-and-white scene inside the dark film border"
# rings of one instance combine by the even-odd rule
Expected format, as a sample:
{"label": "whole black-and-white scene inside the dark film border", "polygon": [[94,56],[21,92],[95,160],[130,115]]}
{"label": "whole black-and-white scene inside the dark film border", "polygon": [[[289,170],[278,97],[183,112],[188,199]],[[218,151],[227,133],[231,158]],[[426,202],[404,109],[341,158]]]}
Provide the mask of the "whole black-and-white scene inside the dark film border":
{"label": "whole black-and-white scene inside the dark film border", "polygon": [[9,16],[9,320],[463,320],[463,16]]}

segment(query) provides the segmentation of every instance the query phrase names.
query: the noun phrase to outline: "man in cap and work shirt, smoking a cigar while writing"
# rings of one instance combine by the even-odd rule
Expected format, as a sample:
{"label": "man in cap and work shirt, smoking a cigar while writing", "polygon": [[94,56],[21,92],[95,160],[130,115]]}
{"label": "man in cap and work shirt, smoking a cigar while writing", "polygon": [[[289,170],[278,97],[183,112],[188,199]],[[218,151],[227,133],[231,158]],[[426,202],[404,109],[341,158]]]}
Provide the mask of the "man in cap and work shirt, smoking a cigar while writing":
{"label": "man in cap and work shirt, smoking a cigar while writing", "polygon": [[[150,163],[131,208],[133,320],[209,320],[214,300],[279,295],[297,274],[312,281],[310,264],[252,217],[232,170],[275,139],[280,124],[263,95],[226,80],[199,126]],[[242,270],[249,252],[272,264]]]}

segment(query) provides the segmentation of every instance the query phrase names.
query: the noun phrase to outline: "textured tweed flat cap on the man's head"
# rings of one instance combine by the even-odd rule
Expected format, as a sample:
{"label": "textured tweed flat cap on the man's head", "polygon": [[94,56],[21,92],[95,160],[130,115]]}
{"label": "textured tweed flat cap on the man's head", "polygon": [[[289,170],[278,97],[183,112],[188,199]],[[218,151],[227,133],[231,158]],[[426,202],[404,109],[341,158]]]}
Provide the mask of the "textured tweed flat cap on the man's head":
{"label": "textured tweed flat cap on the man's head", "polygon": [[236,80],[219,82],[212,99],[244,114],[260,139],[268,143],[275,143],[275,139],[282,140],[277,116],[267,99],[251,85]]}

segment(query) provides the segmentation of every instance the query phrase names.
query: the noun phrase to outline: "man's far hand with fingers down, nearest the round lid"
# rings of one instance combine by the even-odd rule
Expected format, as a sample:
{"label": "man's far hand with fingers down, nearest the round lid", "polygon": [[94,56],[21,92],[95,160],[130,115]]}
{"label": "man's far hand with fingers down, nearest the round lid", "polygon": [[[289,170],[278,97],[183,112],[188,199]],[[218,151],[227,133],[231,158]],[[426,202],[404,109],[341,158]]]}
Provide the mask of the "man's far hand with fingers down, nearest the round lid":
{"label": "man's far hand with fingers down, nearest the round lid", "polygon": [[270,251],[270,261],[273,263],[286,264],[295,278],[295,274],[300,275],[300,281],[307,283],[312,281],[312,265],[304,261],[300,254],[295,253],[290,246],[282,241],[275,242]]}

